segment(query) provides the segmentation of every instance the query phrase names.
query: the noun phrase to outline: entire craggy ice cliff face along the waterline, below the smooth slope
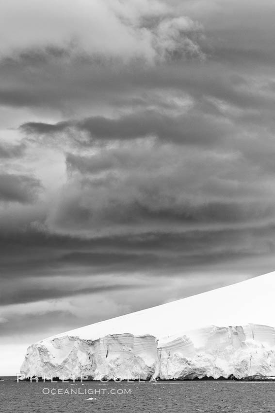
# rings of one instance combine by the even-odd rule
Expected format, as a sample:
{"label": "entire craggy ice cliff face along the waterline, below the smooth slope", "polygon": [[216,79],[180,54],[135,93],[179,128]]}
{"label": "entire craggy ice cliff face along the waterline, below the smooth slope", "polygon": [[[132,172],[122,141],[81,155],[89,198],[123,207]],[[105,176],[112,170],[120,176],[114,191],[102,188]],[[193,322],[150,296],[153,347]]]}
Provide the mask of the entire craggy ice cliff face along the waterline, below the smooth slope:
{"label": "entire craggy ice cliff face along the waterline, below the smooth slope", "polygon": [[172,340],[132,334],[95,341],[63,336],[32,344],[21,371],[26,377],[85,375],[94,380],[275,376],[275,328],[208,327]]}

